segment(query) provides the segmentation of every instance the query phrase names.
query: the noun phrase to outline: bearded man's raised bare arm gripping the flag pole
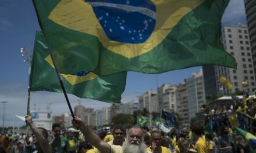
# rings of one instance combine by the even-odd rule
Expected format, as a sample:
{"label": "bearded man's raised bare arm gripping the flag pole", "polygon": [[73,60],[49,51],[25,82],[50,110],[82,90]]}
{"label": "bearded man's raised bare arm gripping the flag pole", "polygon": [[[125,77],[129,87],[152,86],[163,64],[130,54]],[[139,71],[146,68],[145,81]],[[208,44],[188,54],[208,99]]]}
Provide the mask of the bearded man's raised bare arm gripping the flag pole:
{"label": "bearded man's raised bare arm gripping the flag pole", "polygon": [[84,138],[86,141],[88,141],[90,144],[94,145],[99,151],[102,153],[109,153],[111,152],[111,145],[105,143],[102,141],[98,134],[94,133],[86,123],[84,123],[79,117],[75,117],[75,119],[72,121],[72,124],[76,127],[79,127],[81,132],[84,134]]}

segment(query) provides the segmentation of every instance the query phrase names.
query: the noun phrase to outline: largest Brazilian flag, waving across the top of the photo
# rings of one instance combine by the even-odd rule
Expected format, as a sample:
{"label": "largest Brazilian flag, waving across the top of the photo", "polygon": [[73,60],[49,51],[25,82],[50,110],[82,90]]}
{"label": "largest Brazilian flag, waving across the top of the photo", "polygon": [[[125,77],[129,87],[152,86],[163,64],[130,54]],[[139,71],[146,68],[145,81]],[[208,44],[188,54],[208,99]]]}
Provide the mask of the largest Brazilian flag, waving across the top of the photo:
{"label": "largest Brazilian flag, waving across the top of the photo", "polygon": [[229,0],[33,0],[63,74],[236,68],[220,41]]}

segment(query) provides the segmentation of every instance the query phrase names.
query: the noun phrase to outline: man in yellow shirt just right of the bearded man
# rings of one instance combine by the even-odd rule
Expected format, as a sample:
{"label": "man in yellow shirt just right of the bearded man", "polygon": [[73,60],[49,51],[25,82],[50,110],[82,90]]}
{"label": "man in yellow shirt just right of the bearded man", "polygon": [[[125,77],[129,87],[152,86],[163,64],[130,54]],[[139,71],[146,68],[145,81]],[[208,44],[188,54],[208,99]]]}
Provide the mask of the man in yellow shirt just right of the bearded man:
{"label": "man in yellow shirt just right of the bearded man", "polygon": [[154,131],[151,133],[151,146],[147,148],[147,151],[152,153],[170,153],[169,149],[161,146],[161,132]]}

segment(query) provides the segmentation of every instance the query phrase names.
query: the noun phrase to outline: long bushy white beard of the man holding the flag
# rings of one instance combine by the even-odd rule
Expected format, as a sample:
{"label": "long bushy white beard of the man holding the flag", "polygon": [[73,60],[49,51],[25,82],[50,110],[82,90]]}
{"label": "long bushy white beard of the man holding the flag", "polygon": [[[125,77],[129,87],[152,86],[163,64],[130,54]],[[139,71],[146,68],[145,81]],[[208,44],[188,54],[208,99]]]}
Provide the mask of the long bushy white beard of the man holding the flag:
{"label": "long bushy white beard of the man holding the flag", "polygon": [[144,153],[147,145],[145,143],[141,144],[131,144],[127,140],[123,142],[123,153]]}

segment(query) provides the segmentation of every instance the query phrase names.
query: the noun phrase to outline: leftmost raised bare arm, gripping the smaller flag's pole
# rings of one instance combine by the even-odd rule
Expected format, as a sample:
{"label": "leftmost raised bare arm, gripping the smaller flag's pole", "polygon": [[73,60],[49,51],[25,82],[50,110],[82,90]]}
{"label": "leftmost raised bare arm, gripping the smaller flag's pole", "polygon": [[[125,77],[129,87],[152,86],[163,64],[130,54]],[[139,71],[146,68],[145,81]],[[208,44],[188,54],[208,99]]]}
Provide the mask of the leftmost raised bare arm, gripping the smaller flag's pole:
{"label": "leftmost raised bare arm, gripping the smaller flag's pole", "polygon": [[51,153],[52,152],[52,147],[49,145],[47,139],[44,137],[44,134],[32,123],[32,118],[31,116],[27,115],[25,117],[25,122],[27,125],[29,125],[30,129],[35,135],[35,138],[37,139],[40,147],[42,148],[43,152],[45,153]]}

